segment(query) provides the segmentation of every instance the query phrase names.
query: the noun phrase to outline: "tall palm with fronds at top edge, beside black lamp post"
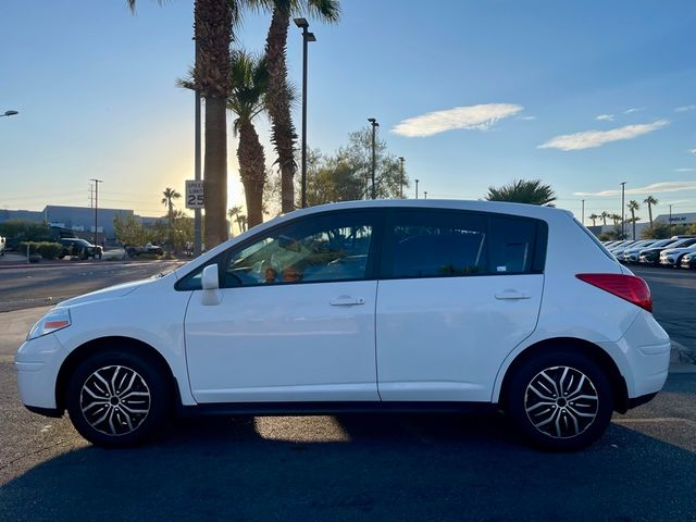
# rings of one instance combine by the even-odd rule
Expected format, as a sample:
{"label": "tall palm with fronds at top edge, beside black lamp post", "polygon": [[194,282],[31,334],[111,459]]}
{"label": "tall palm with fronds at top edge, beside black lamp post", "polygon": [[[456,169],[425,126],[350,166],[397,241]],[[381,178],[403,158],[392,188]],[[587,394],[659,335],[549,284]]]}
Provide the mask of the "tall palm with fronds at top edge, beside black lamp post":
{"label": "tall palm with fronds at top edge, beside black lamp post", "polygon": [[271,116],[271,141],[278,156],[281,169],[281,211],[295,209],[295,187],[293,178],[295,162],[295,140],[297,134],[290,117],[291,89],[287,82],[287,30],[290,16],[308,10],[325,22],[337,22],[340,15],[338,0],[252,0],[252,3],[272,11],[271,26],[265,40],[265,57],[269,70],[266,110]]}

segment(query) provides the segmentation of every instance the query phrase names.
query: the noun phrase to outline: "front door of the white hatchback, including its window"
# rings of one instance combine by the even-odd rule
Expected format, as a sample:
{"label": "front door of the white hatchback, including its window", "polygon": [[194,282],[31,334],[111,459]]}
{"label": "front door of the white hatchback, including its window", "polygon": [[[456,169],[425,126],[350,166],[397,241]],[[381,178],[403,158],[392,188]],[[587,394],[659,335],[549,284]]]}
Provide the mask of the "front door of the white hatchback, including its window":
{"label": "front door of the white hatchback, including its window", "polygon": [[373,212],[298,219],[220,258],[195,290],[186,359],[199,402],[377,400]]}

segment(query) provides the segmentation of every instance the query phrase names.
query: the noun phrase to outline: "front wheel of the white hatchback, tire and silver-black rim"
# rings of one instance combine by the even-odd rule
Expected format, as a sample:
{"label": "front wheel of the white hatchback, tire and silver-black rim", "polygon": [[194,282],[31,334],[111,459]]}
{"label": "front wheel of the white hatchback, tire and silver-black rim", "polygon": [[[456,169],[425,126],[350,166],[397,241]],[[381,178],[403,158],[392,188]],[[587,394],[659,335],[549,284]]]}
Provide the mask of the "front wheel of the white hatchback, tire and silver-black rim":
{"label": "front wheel of the white hatchback, tire and silver-black rim", "polygon": [[65,400],[75,428],[90,443],[108,448],[150,439],[169,419],[172,406],[170,382],[160,366],[121,350],[83,361],[70,378]]}

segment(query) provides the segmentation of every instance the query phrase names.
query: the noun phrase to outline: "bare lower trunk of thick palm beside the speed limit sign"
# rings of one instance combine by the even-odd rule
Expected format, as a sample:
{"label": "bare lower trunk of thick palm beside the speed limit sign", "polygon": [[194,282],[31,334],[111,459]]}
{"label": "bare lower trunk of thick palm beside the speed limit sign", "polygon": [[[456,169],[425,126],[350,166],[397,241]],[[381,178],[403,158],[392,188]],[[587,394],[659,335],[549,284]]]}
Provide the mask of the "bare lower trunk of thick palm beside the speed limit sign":
{"label": "bare lower trunk of thick palm beside the speed limit sign", "polygon": [[227,240],[227,126],[226,98],[206,98],[206,163],[203,201],[206,206],[206,248]]}

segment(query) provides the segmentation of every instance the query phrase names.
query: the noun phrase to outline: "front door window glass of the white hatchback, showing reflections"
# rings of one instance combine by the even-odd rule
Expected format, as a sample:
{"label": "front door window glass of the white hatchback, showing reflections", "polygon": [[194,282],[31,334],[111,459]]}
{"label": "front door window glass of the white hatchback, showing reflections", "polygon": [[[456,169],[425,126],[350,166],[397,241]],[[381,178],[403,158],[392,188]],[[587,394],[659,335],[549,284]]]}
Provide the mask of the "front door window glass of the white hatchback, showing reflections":
{"label": "front door window glass of the white hatchback, showing reflections", "polygon": [[351,281],[365,277],[370,213],[308,217],[276,228],[224,261],[223,287]]}

